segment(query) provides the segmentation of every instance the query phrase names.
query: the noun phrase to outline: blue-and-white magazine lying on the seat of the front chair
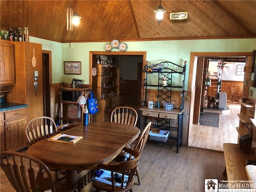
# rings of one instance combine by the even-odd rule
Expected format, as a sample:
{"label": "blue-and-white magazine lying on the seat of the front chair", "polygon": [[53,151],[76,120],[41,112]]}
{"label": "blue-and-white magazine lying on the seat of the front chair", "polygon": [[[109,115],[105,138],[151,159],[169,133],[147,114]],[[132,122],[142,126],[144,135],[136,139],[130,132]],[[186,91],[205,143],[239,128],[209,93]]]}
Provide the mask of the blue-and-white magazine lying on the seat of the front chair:
{"label": "blue-and-white magazine lying on the seat of the front chair", "polygon": [[[103,171],[103,173],[100,175],[100,177],[95,176],[95,177],[92,178],[92,180],[96,180],[96,181],[99,181],[99,182],[103,182],[103,183],[112,185],[111,171],[105,170],[105,169],[100,169],[100,171]],[[122,176],[119,173],[114,172],[114,174],[117,174],[120,177]],[[126,187],[127,181],[128,181],[128,175],[124,175],[124,187]],[[119,181],[115,180],[115,186],[120,187],[121,183]]]}

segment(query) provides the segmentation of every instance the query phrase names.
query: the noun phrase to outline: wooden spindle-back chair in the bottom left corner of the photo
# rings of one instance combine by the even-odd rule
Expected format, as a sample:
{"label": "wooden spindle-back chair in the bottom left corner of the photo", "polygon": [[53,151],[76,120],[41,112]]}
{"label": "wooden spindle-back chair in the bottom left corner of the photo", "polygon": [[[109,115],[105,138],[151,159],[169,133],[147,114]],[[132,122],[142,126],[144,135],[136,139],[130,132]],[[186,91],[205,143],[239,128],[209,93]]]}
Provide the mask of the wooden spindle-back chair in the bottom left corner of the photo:
{"label": "wooden spindle-back chair in the bottom left corner of the photo", "polygon": [[39,159],[15,151],[1,152],[1,168],[17,192],[74,192],[74,184],[54,182],[48,167]]}

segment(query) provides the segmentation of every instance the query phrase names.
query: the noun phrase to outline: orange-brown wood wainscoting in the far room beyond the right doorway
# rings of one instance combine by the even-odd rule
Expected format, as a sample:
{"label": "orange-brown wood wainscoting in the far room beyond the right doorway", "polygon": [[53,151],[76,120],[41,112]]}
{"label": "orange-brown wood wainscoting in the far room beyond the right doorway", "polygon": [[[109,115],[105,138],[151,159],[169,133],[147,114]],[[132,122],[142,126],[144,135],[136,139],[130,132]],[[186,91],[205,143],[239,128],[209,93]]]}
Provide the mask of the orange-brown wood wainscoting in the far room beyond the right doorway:
{"label": "orange-brown wood wainscoting in the far room beyond the right doorway", "polygon": [[[222,81],[221,84],[221,92],[226,92],[227,94],[227,100],[231,100],[232,94],[231,94],[231,86],[232,85],[240,85],[242,87],[241,95],[243,91],[243,84],[242,81]],[[207,95],[214,96],[216,95],[216,87],[207,87]]]}

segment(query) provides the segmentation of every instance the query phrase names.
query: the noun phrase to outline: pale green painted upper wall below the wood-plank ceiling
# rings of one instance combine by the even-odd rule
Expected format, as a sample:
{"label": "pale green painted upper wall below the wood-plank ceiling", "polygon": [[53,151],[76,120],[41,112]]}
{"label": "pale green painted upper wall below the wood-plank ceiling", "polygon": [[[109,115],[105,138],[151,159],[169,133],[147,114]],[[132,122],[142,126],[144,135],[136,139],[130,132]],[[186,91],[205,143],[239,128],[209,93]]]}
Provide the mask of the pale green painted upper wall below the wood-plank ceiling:
{"label": "pale green painted upper wall below the wood-plank ceiling", "polygon": [[[149,63],[171,61],[183,65],[187,61],[189,68],[190,52],[251,52],[256,48],[256,38],[217,39],[217,40],[166,40],[126,42],[126,51],[146,51]],[[52,83],[69,83],[72,78],[89,83],[89,52],[104,51],[106,42],[57,43],[30,37],[30,42],[42,44],[43,50],[52,51]],[[112,51],[119,51],[113,49]],[[111,54],[111,52],[106,52]],[[81,61],[82,75],[65,75],[64,61]],[[188,80],[188,72],[186,73]],[[186,82],[187,87],[187,82]]]}

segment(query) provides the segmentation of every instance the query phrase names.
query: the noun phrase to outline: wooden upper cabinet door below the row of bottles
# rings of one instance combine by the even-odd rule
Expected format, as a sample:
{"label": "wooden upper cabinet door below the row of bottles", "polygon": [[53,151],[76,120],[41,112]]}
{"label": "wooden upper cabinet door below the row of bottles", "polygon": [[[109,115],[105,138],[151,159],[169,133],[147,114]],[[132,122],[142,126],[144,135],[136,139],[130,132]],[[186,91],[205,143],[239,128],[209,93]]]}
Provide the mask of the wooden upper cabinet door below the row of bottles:
{"label": "wooden upper cabinet door below the row of bottles", "polygon": [[0,84],[15,85],[14,45],[11,41],[0,40]]}

